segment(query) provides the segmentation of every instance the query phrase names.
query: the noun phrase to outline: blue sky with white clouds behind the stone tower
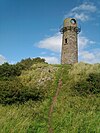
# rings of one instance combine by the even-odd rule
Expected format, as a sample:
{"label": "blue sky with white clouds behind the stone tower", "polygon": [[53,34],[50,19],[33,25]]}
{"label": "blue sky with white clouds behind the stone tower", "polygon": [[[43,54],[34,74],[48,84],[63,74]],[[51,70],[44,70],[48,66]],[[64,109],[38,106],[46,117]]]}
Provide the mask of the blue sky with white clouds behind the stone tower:
{"label": "blue sky with white clouds behind the stone tower", "polygon": [[65,18],[77,19],[79,62],[100,63],[99,0],[0,0],[0,64],[41,57],[59,64]]}

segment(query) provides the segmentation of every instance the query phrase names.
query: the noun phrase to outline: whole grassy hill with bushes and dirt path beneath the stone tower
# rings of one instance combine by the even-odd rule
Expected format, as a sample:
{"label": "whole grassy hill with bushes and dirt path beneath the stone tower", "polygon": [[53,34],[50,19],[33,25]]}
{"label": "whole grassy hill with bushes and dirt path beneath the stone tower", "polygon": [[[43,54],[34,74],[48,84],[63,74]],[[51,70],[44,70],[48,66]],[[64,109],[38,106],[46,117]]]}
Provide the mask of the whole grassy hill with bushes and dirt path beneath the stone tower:
{"label": "whole grassy hill with bushes and dirt path beneath the stone tower", "polygon": [[0,83],[0,133],[100,133],[100,64],[34,63]]}

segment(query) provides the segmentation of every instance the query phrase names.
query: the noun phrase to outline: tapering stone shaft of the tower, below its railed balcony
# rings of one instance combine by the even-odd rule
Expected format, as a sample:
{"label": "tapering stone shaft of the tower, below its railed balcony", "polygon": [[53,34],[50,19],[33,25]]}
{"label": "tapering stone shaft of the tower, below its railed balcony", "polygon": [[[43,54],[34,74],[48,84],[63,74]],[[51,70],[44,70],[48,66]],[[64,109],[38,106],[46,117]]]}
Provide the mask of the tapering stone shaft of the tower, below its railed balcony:
{"label": "tapering stone shaft of the tower, below its railed balcony", "polygon": [[75,31],[76,26],[77,24],[74,26],[71,25],[69,30],[63,32],[61,54],[62,64],[74,64],[78,62],[77,32]]}

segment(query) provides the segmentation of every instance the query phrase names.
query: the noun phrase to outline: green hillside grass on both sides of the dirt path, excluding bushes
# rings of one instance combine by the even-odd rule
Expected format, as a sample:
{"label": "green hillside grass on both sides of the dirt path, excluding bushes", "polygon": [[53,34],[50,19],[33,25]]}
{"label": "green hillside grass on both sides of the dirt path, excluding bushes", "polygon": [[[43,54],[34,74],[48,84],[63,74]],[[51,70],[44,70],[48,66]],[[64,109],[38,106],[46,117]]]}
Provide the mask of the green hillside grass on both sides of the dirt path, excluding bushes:
{"label": "green hillside grass on both sides of the dirt path, excluding bushes", "polygon": [[23,71],[22,84],[41,87],[45,99],[0,105],[0,133],[48,133],[48,112],[59,78],[63,85],[52,113],[54,133],[100,133],[100,94],[82,95],[74,88],[91,73],[100,74],[100,64],[37,64]]}

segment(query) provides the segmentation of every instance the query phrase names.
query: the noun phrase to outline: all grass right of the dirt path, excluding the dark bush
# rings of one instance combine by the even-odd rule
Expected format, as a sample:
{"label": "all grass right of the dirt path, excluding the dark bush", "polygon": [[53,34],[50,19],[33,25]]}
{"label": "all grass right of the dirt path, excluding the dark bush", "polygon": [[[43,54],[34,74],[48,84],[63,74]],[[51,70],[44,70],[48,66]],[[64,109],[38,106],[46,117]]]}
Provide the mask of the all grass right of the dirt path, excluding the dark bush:
{"label": "all grass right of the dirt path, excluding the dark bush", "polygon": [[52,116],[54,133],[99,133],[99,95],[90,93],[84,96],[72,86],[78,81],[81,82],[82,78],[86,79],[90,73],[99,73],[100,65],[80,63],[71,66],[67,71],[66,69],[66,66],[62,69],[64,84]]}

